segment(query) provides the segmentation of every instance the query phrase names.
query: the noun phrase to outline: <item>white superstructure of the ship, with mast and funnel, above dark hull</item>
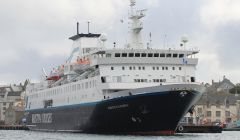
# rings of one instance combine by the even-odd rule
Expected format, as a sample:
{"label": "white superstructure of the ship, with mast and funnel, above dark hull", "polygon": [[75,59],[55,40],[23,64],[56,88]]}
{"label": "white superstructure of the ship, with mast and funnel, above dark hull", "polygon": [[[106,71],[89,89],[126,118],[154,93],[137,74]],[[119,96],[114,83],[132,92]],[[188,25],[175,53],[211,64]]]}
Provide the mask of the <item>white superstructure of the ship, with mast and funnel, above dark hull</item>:
{"label": "white superstructure of the ship, with mast and funnel, above dark hull", "polygon": [[[195,83],[198,50],[152,49],[143,45],[141,18],[131,0],[130,42],[126,48],[106,49],[105,35],[77,34],[67,63],[40,83],[27,86],[26,110],[99,102],[119,91],[159,85]],[[131,94],[129,94],[131,95]]]}

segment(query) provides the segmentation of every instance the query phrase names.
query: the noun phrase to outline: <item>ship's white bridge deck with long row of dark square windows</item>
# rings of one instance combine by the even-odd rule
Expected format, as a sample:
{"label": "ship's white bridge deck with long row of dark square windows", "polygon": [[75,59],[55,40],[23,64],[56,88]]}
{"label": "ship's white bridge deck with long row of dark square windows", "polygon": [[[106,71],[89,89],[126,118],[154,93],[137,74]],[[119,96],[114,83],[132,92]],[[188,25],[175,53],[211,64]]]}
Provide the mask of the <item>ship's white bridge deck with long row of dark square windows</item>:
{"label": "ship's white bridge deck with long row of dark square windows", "polygon": [[198,50],[174,49],[101,49],[85,54],[91,60],[90,65],[113,64],[165,64],[165,65],[197,65],[195,54]]}

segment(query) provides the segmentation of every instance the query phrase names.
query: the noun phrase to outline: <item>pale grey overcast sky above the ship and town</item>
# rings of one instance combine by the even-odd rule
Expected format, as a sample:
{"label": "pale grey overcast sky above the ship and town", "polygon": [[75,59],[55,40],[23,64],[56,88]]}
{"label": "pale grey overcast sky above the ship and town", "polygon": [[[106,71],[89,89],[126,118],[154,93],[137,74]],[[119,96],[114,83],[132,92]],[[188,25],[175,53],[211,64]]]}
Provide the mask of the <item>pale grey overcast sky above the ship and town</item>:
{"label": "pale grey overcast sky above the ship and town", "polygon": [[[106,33],[108,45],[126,42],[128,0],[0,0],[0,84],[36,81],[44,67],[63,64],[72,49],[68,38],[80,32]],[[153,47],[198,48],[199,82],[240,82],[239,0],[137,0],[148,9],[143,38],[152,33]],[[121,23],[120,20],[124,22]],[[166,36],[166,37],[165,37]]]}

